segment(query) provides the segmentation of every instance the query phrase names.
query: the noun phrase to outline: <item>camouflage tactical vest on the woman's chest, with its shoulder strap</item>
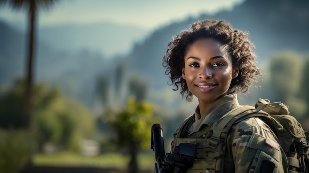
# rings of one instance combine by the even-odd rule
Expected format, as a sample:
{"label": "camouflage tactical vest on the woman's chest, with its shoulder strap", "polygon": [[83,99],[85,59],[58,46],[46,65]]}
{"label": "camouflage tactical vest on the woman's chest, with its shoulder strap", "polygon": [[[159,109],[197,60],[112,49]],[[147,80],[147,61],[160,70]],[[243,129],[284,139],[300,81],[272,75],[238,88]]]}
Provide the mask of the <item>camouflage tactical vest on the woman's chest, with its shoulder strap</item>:
{"label": "camouflage tactical vest on the woman's chest, with its shoulder strap", "polygon": [[[228,147],[228,132],[233,124],[235,125],[243,119],[237,118],[239,121],[234,121],[234,123],[229,124],[229,126],[225,127],[224,129],[221,129],[221,127],[217,125],[221,122],[224,124],[229,122],[229,118],[225,117],[231,115],[232,112],[238,108],[241,108],[241,106],[237,106],[231,111],[227,112],[212,126],[205,125],[204,127],[200,128],[199,131],[192,134],[185,134],[184,132],[186,132],[187,128],[190,127],[191,123],[188,122],[192,122],[193,117],[185,120],[181,127],[176,131],[174,134],[174,140],[172,142],[172,148],[179,145],[180,143],[192,143],[197,146],[196,159],[193,162],[193,166],[187,169],[186,173],[223,173],[226,171],[224,170],[224,162],[226,162],[224,159],[229,157],[225,155],[226,149]],[[252,110],[252,112],[254,111]],[[246,112],[239,113],[240,114],[236,115],[237,117],[242,117],[242,114],[247,114]],[[246,119],[246,117],[243,118]],[[219,134],[217,133],[218,131],[220,132]],[[186,136],[188,136],[188,138],[184,138]]]}

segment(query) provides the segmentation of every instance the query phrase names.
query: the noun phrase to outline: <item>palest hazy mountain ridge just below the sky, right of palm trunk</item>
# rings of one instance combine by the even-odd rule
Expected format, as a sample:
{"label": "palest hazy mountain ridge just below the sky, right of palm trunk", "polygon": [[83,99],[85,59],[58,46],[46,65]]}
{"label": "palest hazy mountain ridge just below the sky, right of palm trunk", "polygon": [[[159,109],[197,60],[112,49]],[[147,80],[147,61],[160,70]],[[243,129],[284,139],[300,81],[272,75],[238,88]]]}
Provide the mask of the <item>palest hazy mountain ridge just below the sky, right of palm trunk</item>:
{"label": "palest hazy mountain ridge just below the sky, right of palm trunk", "polygon": [[55,50],[88,49],[111,57],[126,54],[132,49],[132,42],[140,41],[147,33],[137,26],[101,22],[46,26],[39,28],[38,37]]}

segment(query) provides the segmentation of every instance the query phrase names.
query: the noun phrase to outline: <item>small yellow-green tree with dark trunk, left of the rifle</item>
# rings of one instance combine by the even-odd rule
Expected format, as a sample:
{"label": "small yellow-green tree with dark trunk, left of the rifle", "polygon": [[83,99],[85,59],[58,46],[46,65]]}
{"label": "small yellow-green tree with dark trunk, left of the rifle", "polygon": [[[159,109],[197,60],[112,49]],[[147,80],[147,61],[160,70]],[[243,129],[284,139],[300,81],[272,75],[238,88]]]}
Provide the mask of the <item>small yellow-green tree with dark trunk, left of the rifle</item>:
{"label": "small yellow-green tree with dark trunk, left of the rifle", "polygon": [[116,144],[129,151],[129,173],[138,173],[137,155],[141,148],[149,148],[151,139],[150,127],[159,120],[153,117],[154,106],[145,102],[128,99],[126,109],[107,116],[108,124],[116,133]]}

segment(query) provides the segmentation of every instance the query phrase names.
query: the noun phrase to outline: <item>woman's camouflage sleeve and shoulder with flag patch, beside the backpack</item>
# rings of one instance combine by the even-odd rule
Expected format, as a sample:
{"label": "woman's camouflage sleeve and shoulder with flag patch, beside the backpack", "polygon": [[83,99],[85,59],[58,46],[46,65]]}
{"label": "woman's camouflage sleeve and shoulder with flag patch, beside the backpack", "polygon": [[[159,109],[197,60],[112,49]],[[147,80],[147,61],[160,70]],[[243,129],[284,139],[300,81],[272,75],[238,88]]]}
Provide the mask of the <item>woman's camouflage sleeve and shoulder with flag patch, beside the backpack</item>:
{"label": "woman's camouflage sleeve and shoulder with flag patch, beside the backpack", "polygon": [[255,162],[251,167],[261,168],[263,161],[274,165],[275,173],[285,173],[287,161],[278,138],[270,127],[258,117],[251,117],[235,124],[227,141],[227,155],[235,160],[235,170],[247,169],[248,160]]}

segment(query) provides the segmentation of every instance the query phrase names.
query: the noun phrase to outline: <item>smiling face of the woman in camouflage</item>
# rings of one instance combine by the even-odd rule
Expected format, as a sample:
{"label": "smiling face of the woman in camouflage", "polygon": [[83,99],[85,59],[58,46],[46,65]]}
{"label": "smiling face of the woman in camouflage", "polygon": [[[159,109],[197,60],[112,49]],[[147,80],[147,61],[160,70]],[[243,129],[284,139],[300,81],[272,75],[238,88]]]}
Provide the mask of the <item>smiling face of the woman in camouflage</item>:
{"label": "smiling face of the woman in camouflage", "polygon": [[199,102],[215,102],[226,95],[232,79],[238,75],[238,70],[232,68],[231,57],[212,38],[190,45],[184,61],[182,77]]}

